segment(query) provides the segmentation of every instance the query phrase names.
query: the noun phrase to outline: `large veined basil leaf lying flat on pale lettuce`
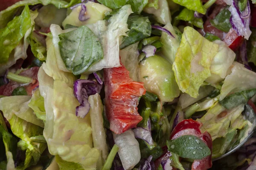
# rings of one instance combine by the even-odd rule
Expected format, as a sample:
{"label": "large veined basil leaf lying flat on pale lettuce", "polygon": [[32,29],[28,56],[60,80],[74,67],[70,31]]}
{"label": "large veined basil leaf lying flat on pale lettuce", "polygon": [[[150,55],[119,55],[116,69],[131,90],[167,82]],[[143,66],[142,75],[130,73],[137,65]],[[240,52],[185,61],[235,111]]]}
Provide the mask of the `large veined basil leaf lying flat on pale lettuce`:
{"label": "large veined basil leaf lying flat on pale lettuce", "polygon": [[79,75],[103,58],[99,39],[87,26],[59,35],[61,58],[67,70]]}

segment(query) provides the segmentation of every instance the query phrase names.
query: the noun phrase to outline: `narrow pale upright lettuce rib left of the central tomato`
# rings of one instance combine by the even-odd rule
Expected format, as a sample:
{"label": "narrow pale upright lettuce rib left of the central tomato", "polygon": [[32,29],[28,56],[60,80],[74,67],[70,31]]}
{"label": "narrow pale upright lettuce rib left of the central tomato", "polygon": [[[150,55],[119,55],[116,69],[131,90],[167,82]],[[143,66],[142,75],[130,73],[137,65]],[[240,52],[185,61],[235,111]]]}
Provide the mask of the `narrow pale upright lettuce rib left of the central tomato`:
{"label": "narrow pale upright lettuce rib left of the central tomato", "polygon": [[98,93],[90,95],[88,101],[90,103],[89,114],[92,125],[93,147],[96,147],[101,153],[97,161],[97,168],[101,169],[108,158],[108,146],[102,117],[103,104]]}

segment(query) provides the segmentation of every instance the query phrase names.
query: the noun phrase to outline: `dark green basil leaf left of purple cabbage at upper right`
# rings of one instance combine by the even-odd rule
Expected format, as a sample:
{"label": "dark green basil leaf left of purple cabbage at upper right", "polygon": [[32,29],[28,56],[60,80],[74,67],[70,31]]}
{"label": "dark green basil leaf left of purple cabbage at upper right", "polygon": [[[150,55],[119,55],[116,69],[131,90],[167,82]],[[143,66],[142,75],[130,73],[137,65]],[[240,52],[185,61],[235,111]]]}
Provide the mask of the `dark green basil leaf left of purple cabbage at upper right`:
{"label": "dark green basil leaf left of purple cabbage at upper right", "polygon": [[220,13],[218,13],[214,19],[210,20],[210,22],[215,28],[223,32],[229,32],[232,27],[230,17],[231,12],[228,10],[228,7],[226,7]]}

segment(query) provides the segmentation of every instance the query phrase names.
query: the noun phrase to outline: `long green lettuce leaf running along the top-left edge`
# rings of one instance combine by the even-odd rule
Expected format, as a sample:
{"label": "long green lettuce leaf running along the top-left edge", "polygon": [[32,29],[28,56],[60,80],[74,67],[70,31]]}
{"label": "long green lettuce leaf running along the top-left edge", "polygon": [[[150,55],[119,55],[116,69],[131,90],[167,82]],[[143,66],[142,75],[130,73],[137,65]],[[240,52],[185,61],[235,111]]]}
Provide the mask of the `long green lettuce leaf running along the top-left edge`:
{"label": "long green lettuce leaf running along the top-left edge", "polygon": [[44,6],[48,4],[53,4],[58,9],[60,8],[69,8],[76,3],[80,3],[80,0],[71,0],[70,3],[67,3],[64,0],[22,0],[15,3],[12,6],[9,6],[7,9],[0,12],[0,29],[6,27],[7,23],[12,20],[15,13],[19,10],[19,7],[23,7],[26,5],[36,5],[42,4]]}

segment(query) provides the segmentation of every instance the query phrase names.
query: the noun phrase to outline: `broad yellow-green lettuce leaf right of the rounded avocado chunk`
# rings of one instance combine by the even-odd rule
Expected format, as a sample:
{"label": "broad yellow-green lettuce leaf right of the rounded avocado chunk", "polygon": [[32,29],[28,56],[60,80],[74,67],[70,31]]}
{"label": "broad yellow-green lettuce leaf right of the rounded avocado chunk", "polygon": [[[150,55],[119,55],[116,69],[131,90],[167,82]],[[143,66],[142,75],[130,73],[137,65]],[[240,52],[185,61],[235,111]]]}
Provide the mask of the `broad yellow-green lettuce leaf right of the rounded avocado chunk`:
{"label": "broad yellow-green lettuce leaf right of the rounded avocado chunk", "polygon": [[205,39],[192,27],[185,27],[172,69],[182,92],[196,98],[200,86],[211,75],[212,58],[218,44]]}

